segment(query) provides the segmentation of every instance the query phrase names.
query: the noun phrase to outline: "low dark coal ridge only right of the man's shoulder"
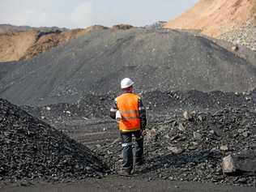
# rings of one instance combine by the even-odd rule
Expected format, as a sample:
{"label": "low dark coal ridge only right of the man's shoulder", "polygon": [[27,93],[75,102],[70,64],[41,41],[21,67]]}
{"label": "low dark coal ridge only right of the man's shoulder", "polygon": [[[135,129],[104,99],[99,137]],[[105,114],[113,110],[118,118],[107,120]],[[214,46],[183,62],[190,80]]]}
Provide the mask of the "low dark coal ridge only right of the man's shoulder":
{"label": "low dark coal ridge only right of the man's shoulder", "polygon": [[149,111],[168,113],[175,109],[215,111],[228,107],[254,109],[256,90],[251,92],[200,92],[169,91],[143,92],[143,100]]}

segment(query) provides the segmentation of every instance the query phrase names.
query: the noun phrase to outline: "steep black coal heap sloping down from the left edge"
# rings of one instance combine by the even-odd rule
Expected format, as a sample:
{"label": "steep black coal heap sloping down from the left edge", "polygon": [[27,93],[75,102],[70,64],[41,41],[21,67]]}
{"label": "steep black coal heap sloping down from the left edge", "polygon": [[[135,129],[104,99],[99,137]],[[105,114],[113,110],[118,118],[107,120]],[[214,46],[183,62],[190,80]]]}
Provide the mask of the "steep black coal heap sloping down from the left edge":
{"label": "steep black coal heap sloping down from the left edge", "polygon": [[0,181],[67,181],[107,169],[87,147],[0,99]]}

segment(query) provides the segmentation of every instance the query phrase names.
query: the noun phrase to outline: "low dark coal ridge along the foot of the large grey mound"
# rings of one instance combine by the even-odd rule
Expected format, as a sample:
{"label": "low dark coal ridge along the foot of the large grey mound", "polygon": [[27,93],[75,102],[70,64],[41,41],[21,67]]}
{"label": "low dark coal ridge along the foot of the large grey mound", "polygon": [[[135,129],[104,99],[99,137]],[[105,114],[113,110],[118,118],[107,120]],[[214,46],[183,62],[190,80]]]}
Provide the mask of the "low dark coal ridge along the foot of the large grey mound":
{"label": "low dark coal ridge along the foot of the large grey mound", "polygon": [[[199,110],[214,112],[228,107],[254,109],[256,106],[256,90],[252,92],[199,92],[169,91],[141,92],[147,113],[151,121],[156,121],[156,114],[173,115],[183,110]],[[117,96],[113,92],[105,95],[87,94],[73,104],[62,103],[38,107],[22,106],[32,116],[41,118],[54,125],[55,122],[69,122],[74,119],[109,118],[109,109]],[[157,121],[162,119],[159,117]],[[55,125],[54,125],[55,126]]]}

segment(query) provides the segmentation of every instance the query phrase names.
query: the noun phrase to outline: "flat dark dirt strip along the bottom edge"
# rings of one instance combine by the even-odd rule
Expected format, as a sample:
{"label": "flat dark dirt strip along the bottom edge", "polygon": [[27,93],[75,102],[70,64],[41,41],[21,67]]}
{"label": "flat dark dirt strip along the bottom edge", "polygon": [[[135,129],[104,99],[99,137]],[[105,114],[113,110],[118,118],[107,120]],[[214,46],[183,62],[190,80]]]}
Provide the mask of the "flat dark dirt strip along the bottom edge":
{"label": "flat dark dirt strip along the bottom edge", "polygon": [[36,184],[33,186],[6,186],[2,192],[82,192],[82,191],[169,191],[169,192],[253,192],[253,187],[220,186],[211,183],[177,182],[155,180],[147,181],[137,177],[108,177],[104,179],[87,179],[79,183]]}

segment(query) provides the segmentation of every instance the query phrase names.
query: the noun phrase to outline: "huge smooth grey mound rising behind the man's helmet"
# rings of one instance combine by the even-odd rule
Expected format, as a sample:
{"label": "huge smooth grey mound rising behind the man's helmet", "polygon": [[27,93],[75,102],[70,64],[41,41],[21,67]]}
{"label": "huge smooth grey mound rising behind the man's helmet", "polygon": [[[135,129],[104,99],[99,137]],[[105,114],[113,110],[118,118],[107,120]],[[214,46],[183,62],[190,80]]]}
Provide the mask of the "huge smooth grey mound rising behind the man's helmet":
{"label": "huge smooth grey mound rising behind the man's helmet", "polygon": [[1,96],[20,105],[73,103],[84,92],[119,92],[126,76],[138,92],[243,92],[256,80],[253,65],[212,41],[145,28],[95,31],[21,64],[0,81]]}

